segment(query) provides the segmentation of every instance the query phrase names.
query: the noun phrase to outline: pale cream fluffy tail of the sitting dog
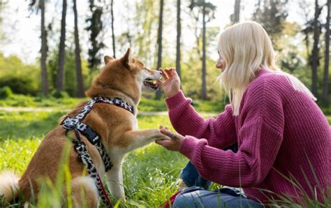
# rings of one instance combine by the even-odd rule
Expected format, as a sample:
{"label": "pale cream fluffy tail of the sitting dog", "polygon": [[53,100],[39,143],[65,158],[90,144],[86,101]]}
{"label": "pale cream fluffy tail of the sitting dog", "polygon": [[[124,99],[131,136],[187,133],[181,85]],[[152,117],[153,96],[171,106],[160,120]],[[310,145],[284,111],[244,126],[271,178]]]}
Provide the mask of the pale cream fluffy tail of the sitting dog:
{"label": "pale cream fluffy tail of the sitting dog", "polygon": [[13,172],[0,172],[0,196],[3,195],[6,202],[10,202],[17,197],[19,179]]}

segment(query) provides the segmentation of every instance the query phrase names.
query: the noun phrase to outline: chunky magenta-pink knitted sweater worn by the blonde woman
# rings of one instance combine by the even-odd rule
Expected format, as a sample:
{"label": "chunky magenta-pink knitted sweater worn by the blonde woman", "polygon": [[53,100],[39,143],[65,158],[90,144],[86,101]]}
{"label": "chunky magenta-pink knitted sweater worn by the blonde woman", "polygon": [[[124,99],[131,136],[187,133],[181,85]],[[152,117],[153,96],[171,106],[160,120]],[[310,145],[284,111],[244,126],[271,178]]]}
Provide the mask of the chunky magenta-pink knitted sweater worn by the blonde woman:
{"label": "chunky magenta-pink knitted sweater worn by the blonde woman", "polygon": [[[185,136],[179,151],[205,179],[242,187],[248,198],[263,203],[278,195],[300,202],[302,193],[321,201],[330,188],[328,121],[284,75],[259,70],[244,93],[238,116],[227,105],[216,119],[203,119],[182,91],[165,102],[172,126]],[[235,142],[237,153],[222,150]]]}

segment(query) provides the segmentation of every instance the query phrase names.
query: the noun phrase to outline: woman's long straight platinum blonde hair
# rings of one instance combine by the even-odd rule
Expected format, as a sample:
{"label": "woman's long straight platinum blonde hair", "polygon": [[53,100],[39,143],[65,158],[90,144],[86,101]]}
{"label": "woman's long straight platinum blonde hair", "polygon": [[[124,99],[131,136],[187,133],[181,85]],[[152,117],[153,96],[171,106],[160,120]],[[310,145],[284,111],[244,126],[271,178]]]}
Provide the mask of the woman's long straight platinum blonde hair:
{"label": "woman's long straight platinum blonde hair", "polygon": [[244,91],[261,68],[284,75],[295,90],[306,92],[316,101],[300,80],[276,66],[272,42],[257,22],[247,21],[228,27],[219,35],[218,48],[226,64],[218,80],[228,93],[234,115],[239,114]]}

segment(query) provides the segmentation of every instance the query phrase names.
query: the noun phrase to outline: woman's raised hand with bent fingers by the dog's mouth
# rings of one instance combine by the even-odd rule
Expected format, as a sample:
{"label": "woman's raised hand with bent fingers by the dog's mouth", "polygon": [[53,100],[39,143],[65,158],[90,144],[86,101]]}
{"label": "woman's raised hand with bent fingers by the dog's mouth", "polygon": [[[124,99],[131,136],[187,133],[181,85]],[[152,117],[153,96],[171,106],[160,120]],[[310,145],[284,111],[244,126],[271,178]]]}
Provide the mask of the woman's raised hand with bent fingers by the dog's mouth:
{"label": "woman's raised hand with bent fingers by the dog's mouth", "polygon": [[164,82],[159,80],[159,85],[161,85],[165,95],[167,97],[174,96],[180,90],[180,79],[175,68],[159,68],[162,71],[162,77]]}

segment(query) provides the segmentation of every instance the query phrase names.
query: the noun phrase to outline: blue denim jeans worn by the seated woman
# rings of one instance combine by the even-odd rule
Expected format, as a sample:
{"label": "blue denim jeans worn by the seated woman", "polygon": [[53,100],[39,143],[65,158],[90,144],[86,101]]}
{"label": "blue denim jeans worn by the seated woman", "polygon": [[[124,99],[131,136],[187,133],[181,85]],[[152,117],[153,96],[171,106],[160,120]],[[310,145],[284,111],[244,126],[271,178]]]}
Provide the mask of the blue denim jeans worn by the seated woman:
{"label": "blue denim jeans worn by the seated woman", "polygon": [[[237,146],[228,147],[237,151]],[[235,188],[219,188],[207,191],[211,181],[203,179],[196,167],[189,162],[180,174],[182,180],[190,188],[177,195],[172,207],[264,207],[259,202],[246,198]]]}

